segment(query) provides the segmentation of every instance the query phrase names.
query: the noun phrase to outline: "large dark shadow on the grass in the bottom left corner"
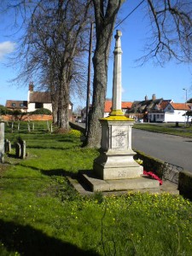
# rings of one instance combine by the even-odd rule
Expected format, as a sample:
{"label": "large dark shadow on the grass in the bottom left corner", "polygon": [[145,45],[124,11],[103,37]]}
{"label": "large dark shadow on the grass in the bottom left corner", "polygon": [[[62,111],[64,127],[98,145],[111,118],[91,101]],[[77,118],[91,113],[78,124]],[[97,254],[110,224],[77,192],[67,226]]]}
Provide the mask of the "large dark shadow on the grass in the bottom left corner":
{"label": "large dark shadow on the grass in the bottom left corner", "polygon": [[22,226],[0,219],[0,230],[0,241],[8,252],[17,251],[26,256],[98,255],[93,251],[84,251],[71,243],[47,236],[29,225]]}

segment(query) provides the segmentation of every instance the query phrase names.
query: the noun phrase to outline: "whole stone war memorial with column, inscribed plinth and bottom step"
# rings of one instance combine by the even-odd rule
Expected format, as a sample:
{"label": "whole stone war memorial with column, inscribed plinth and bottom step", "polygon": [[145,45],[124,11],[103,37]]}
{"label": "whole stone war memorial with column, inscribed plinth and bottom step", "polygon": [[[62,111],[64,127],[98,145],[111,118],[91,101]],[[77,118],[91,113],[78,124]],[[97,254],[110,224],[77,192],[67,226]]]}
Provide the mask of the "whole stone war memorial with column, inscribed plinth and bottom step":
{"label": "whole stone war memorial with column, inscribed plinth and bottom step", "polygon": [[147,190],[157,192],[160,183],[143,175],[143,166],[133,159],[131,129],[134,119],[125,117],[121,110],[121,42],[122,33],[116,32],[113,51],[112,111],[100,119],[102,141],[100,155],[94,160],[93,171],[82,173],[92,191]]}

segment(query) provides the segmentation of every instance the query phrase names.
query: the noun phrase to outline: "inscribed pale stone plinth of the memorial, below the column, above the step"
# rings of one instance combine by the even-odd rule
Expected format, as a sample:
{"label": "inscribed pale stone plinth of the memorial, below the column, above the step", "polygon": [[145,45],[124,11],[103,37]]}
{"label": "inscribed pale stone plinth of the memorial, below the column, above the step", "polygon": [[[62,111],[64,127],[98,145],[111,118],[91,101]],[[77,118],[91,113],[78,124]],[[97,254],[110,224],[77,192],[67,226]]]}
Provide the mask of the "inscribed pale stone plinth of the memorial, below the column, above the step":
{"label": "inscribed pale stone plinth of the memorial, below the column, above the step", "polygon": [[102,143],[93,166],[96,175],[104,180],[140,177],[143,166],[133,159],[136,153],[131,148],[133,120],[110,116],[100,122]]}

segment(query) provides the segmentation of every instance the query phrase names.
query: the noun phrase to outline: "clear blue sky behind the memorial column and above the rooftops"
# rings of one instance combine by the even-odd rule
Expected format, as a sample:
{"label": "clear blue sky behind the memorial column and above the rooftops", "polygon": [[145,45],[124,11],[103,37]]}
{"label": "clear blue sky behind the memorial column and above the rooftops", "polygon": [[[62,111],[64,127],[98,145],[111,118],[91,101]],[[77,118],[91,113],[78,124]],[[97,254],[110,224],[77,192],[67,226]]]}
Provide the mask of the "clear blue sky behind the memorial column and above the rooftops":
{"label": "clear blue sky behind the memorial column and above the rooftops", "polygon": [[[119,20],[128,15],[140,1],[127,1],[119,14]],[[9,16],[10,18],[10,16]],[[2,19],[2,18],[1,18]],[[17,85],[9,83],[15,78],[15,67],[5,67],[9,54],[14,53],[14,36],[8,27],[10,19],[0,20],[0,104],[6,100],[26,100],[26,86],[17,88]],[[13,20],[12,20],[13,21]],[[122,101],[142,101],[144,96],[151,98],[153,94],[157,98],[172,99],[174,102],[185,101],[185,91],[188,90],[188,98],[192,97],[192,67],[187,64],[177,64],[177,61],[166,63],[165,67],[154,66],[153,61],[148,61],[143,67],[137,67],[136,60],[143,55],[144,45],[148,34],[148,20],[144,17],[143,6],[140,6],[117,29],[121,30],[122,44]],[[115,34],[115,31],[114,31]],[[114,39],[112,44],[112,52]],[[29,81],[30,82],[30,81]],[[113,54],[111,54],[108,68],[108,93],[112,96],[113,84]],[[74,108],[78,105],[84,107],[85,101],[72,99]]]}

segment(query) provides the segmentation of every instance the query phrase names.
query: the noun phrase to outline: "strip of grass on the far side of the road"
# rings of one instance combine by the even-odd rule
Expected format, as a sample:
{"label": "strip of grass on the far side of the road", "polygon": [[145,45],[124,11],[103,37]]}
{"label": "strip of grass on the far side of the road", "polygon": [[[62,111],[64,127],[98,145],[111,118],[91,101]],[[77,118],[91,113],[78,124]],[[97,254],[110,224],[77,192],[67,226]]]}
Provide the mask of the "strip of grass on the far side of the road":
{"label": "strip of grass on the far side of the road", "polygon": [[178,135],[178,136],[184,136],[184,137],[192,137],[192,126],[187,125],[184,127],[183,124],[178,124],[178,126],[175,123],[170,124],[135,124],[133,126],[136,129],[141,129],[145,131],[154,131],[154,132],[161,132],[161,133],[167,133],[172,135]]}

